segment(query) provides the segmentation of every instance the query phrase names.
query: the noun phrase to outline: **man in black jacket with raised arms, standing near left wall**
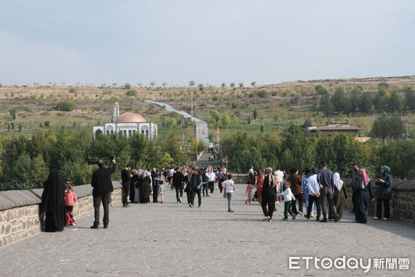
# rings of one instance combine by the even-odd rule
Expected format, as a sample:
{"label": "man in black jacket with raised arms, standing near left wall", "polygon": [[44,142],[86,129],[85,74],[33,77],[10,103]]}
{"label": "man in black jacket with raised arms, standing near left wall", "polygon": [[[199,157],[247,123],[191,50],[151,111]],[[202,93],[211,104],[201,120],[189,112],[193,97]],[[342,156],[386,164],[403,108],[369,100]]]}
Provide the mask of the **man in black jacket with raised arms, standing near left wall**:
{"label": "man in black jacket with raised arms, standing near left wall", "polygon": [[100,226],[100,206],[102,202],[102,208],[104,208],[104,229],[108,228],[109,224],[109,202],[111,193],[114,188],[112,186],[111,174],[116,172],[116,159],[112,159],[112,168],[104,168],[105,163],[100,159],[98,161],[98,170],[95,170],[92,175],[91,186],[93,187],[93,210],[95,213],[95,220],[91,229],[98,229]]}

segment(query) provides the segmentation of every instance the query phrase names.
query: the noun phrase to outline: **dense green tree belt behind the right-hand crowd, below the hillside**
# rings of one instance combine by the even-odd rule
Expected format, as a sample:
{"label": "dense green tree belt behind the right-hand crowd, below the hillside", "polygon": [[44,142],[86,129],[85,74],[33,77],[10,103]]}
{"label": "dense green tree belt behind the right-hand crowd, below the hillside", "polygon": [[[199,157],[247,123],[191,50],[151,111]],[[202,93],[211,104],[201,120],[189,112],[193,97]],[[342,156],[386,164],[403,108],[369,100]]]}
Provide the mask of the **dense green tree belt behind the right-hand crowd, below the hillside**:
{"label": "dense green tree belt behind the right-hand crowd, below the hillside", "polygon": [[371,139],[360,143],[352,135],[306,134],[301,127],[291,125],[284,138],[277,132],[259,135],[237,132],[225,136],[221,145],[232,172],[248,172],[251,166],[304,170],[327,161],[329,168],[342,177],[351,177],[353,162],[366,168],[371,177],[384,164],[391,168],[394,178],[415,177],[415,143],[412,140],[389,139],[385,144]]}

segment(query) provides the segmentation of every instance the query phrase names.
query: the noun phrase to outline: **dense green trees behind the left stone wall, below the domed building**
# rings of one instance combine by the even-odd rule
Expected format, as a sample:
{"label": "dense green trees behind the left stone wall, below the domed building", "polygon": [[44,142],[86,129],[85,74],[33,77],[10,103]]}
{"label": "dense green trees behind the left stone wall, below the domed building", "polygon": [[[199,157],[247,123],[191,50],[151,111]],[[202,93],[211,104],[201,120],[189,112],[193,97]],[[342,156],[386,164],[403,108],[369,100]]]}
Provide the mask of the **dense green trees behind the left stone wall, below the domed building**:
{"label": "dense green trees behind the left stone wall, below the domed building", "polygon": [[[57,134],[37,132],[29,139],[25,136],[1,138],[1,190],[24,190],[42,188],[51,169],[57,168],[62,178],[75,185],[89,184],[98,159],[107,164],[113,156],[117,161],[114,179],[120,179],[120,172],[127,163],[136,168],[183,165],[187,153],[182,152],[181,139],[175,132],[165,141],[149,141],[142,134],[131,138],[123,135],[104,136],[93,139],[85,129],[68,134],[65,127]],[[194,154],[196,144],[190,145]]]}

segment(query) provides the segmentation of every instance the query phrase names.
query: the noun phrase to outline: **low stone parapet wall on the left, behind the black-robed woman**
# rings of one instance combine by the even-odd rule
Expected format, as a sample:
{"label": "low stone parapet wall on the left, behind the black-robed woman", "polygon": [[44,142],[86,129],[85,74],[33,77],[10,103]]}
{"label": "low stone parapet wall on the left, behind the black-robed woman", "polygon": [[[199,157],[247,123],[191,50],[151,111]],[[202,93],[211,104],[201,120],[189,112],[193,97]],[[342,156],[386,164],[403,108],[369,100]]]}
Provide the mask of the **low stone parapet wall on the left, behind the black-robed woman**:
{"label": "low stone parapet wall on the left, behind the black-robed woman", "polygon": [[[113,187],[111,206],[121,204],[120,181],[113,181]],[[77,195],[73,206],[75,220],[93,213],[91,185],[74,186],[73,191]],[[44,213],[39,210],[42,193],[43,189],[0,191],[0,247],[44,229]]]}

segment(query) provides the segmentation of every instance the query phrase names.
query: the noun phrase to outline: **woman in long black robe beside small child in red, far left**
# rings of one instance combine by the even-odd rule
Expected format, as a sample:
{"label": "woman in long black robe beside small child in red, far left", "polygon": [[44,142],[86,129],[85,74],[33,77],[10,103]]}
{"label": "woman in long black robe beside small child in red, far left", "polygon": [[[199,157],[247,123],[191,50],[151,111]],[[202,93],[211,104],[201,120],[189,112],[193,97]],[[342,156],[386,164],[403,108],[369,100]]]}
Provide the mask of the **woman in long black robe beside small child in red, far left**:
{"label": "woman in long black robe beside small child in red, far left", "polygon": [[50,171],[48,179],[44,182],[42,193],[42,208],[46,214],[45,231],[63,231],[65,219],[65,184],[57,170]]}

